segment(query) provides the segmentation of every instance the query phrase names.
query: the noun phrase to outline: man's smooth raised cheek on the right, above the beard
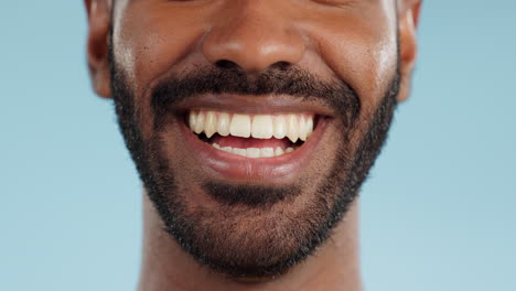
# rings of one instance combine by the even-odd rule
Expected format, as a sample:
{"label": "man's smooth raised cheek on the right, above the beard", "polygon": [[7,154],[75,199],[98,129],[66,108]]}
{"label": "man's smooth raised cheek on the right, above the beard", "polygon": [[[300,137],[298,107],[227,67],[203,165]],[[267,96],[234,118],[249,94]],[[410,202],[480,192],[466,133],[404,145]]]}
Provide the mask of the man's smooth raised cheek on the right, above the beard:
{"label": "man's smooth raised cheek on the right, above the beard", "polygon": [[356,90],[365,110],[378,105],[397,66],[395,19],[381,7],[366,12],[330,18],[309,30],[322,62]]}

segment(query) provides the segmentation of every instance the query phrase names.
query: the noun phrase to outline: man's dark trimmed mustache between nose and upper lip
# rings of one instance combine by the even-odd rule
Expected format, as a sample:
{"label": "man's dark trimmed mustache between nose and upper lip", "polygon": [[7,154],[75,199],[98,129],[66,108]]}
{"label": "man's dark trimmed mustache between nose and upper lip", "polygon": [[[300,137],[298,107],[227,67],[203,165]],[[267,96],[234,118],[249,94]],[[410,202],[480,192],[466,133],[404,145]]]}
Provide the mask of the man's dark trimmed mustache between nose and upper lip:
{"label": "man's dark trimmed mustache between nose and upper lip", "polygon": [[179,77],[160,82],[151,91],[151,106],[157,116],[164,115],[178,103],[203,94],[288,95],[300,100],[319,101],[348,121],[357,118],[361,101],[342,79],[322,80],[294,66],[275,64],[256,76],[238,66],[204,66]]}

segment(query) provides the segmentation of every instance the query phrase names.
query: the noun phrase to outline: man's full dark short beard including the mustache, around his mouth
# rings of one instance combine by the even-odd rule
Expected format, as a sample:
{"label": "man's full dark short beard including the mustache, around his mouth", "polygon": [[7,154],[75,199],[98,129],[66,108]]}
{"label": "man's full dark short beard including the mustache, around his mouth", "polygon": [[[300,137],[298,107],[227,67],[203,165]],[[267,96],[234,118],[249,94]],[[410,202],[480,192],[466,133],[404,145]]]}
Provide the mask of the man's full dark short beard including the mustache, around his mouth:
{"label": "man's full dark short beard including the mustache, around his mouth", "polygon": [[[153,132],[143,134],[141,108],[111,45],[109,57],[120,131],[164,231],[202,266],[235,278],[281,276],[326,241],[358,196],[385,143],[400,79],[398,64],[377,108],[367,122],[358,122],[359,98],[344,80],[322,82],[281,64],[255,79],[227,64],[207,66],[168,78],[152,89]],[[175,104],[204,93],[288,95],[333,108],[342,131],[335,157],[327,159],[330,170],[315,186],[303,182],[278,186],[200,181],[218,207],[192,207],[189,185],[179,183],[173,161],[166,158],[163,129]],[[359,137],[354,146],[352,134]],[[301,209],[289,211],[303,188],[314,191],[304,195]]]}

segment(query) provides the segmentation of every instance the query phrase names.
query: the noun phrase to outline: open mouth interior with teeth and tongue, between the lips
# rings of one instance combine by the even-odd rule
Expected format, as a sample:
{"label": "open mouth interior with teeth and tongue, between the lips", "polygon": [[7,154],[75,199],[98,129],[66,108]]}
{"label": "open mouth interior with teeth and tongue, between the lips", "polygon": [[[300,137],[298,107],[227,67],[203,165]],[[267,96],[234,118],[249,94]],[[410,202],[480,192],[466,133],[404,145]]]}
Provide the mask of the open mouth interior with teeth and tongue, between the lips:
{"label": "open mouth interior with teeth and tongue, between the lips", "polygon": [[313,114],[245,115],[190,110],[187,125],[213,148],[250,159],[291,153],[313,133]]}

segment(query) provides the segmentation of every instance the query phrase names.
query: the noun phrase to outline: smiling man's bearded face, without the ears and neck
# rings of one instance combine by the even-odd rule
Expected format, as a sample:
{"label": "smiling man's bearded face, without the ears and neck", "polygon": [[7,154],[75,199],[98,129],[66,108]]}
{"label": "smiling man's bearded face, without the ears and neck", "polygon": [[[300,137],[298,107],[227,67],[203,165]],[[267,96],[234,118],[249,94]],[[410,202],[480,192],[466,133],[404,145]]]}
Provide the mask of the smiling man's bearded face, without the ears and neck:
{"label": "smiling man's bearded face, without the ears and neck", "polygon": [[390,125],[395,1],[120,0],[110,84],[164,228],[236,277],[273,277],[331,236]]}

